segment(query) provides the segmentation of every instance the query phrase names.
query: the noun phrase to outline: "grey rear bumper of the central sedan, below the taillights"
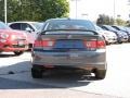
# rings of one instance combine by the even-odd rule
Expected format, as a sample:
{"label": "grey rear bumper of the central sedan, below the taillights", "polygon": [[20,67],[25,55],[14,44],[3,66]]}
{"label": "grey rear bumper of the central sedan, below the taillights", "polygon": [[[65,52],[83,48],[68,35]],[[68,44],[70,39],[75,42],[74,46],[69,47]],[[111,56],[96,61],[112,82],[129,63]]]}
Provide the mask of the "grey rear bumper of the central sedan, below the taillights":
{"label": "grey rear bumper of the central sedan, below the taillights", "polygon": [[32,65],[106,70],[105,49],[96,51],[32,52]]}

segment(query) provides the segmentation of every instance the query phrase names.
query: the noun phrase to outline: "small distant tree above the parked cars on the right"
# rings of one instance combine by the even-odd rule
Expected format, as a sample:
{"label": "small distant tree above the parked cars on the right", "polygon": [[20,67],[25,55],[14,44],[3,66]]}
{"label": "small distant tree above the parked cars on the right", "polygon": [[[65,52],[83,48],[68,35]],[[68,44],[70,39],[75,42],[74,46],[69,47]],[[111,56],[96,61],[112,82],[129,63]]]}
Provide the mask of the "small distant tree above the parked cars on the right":
{"label": "small distant tree above the parked cars on the right", "polygon": [[114,24],[114,19],[109,17],[108,15],[105,14],[100,14],[99,19],[96,20],[98,25],[113,25]]}

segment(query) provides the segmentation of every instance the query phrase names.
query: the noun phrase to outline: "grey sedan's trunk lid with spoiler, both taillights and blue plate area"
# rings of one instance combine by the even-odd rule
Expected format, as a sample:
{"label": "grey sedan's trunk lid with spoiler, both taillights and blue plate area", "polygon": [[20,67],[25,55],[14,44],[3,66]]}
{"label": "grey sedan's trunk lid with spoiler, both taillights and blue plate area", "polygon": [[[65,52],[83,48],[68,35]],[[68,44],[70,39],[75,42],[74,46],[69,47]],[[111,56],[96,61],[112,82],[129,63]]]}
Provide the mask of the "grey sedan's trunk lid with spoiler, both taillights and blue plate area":
{"label": "grey sedan's trunk lid with spoiler, both taillights and blue plate area", "polygon": [[[93,35],[94,34],[94,35]],[[89,32],[62,32],[40,35],[35,41],[35,48],[42,50],[96,50],[105,48],[105,41],[95,33]]]}

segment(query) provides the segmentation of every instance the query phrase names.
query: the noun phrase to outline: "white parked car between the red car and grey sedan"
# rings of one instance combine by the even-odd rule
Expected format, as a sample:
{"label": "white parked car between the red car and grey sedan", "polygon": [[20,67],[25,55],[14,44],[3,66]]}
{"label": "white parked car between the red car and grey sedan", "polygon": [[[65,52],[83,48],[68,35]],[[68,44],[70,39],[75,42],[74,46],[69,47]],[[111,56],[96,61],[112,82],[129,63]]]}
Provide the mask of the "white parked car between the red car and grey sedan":
{"label": "white parked car between the red car and grey sedan", "polygon": [[41,32],[43,23],[39,22],[11,22],[8,24],[13,29],[24,30],[27,34],[29,41],[29,48],[32,48],[32,44],[37,38],[37,35]]}

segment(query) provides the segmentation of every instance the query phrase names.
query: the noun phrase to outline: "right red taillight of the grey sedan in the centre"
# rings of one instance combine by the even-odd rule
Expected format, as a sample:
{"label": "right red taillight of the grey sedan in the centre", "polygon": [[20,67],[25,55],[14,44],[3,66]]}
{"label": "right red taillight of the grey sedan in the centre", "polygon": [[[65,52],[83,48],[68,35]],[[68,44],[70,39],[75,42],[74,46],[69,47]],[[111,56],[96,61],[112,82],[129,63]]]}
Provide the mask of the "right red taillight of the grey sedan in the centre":
{"label": "right red taillight of the grey sedan in the centre", "polygon": [[86,40],[84,46],[88,49],[105,48],[105,41],[104,40]]}

